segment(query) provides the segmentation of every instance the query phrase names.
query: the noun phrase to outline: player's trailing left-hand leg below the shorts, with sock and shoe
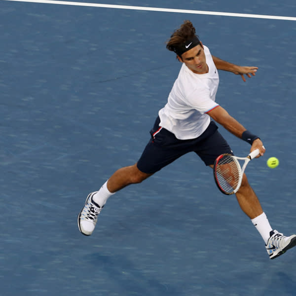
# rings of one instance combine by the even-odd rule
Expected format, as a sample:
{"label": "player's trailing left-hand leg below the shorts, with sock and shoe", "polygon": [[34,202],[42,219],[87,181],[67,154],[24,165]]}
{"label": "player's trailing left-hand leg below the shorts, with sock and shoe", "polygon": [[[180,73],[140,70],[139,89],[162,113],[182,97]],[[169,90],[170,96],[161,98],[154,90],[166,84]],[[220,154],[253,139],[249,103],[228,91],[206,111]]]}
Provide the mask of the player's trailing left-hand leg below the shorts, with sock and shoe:
{"label": "player's trailing left-hand leg below the shorts, with sock and shoe", "polygon": [[87,196],[84,207],[77,218],[80,232],[84,235],[92,234],[98,215],[112,194],[127,185],[141,183],[151,175],[153,174],[141,172],[137,164],[117,170],[99,191],[92,192]]}

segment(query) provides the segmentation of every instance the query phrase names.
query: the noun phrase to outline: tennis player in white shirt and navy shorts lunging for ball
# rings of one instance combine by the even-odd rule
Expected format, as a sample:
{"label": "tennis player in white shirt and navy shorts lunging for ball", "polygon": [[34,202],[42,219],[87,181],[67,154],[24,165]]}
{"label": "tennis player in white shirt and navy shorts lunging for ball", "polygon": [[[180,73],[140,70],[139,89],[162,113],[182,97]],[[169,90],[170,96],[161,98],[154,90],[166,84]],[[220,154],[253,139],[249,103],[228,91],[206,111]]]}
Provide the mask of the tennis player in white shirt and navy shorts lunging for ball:
{"label": "tennis player in white shirt and navy shorts lunging for ball", "polygon": [[[130,184],[141,183],[188,152],[195,152],[205,165],[212,168],[220,154],[232,153],[215,122],[248,142],[251,151],[258,148],[259,156],[265,152],[260,138],[249,132],[216,102],[218,70],[241,75],[246,81],[245,75],[254,76],[258,68],[237,66],[211,55],[209,48],[196,36],[190,21],[185,21],[174,31],[166,47],[175,52],[182,63],[168,102],[158,112],[150,131],[151,138],[138,162],[117,170],[99,191],[88,195],[77,219],[78,228],[85,235],[92,234],[98,215],[116,191]],[[296,245],[296,235],[286,237],[271,228],[246,175],[236,197],[242,211],[262,236],[270,259]]]}

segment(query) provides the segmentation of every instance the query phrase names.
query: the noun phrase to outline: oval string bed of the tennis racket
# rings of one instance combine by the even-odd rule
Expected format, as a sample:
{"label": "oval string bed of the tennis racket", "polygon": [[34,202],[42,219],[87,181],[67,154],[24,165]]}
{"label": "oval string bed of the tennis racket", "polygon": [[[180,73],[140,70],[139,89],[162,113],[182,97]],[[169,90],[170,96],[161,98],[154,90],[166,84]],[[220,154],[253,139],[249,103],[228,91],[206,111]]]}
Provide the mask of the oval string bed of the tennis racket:
{"label": "oval string bed of the tennis racket", "polygon": [[233,193],[240,180],[240,169],[231,155],[223,155],[216,164],[216,177],[219,186],[226,193]]}

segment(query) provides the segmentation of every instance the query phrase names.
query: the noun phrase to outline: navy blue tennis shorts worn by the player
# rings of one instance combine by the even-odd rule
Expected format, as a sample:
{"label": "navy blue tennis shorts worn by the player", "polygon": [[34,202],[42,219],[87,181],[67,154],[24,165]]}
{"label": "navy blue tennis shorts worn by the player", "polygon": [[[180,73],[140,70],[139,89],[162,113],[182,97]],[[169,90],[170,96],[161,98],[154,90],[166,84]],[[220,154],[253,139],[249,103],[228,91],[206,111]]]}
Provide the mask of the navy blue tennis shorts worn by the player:
{"label": "navy blue tennis shorts worn by the player", "polygon": [[153,174],[188,152],[195,152],[206,165],[214,164],[223,153],[232,154],[214,121],[198,138],[190,140],[177,139],[173,133],[161,128],[159,123],[157,117],[150,131],[151,139],[137,162],[138,169],[143,173]]}

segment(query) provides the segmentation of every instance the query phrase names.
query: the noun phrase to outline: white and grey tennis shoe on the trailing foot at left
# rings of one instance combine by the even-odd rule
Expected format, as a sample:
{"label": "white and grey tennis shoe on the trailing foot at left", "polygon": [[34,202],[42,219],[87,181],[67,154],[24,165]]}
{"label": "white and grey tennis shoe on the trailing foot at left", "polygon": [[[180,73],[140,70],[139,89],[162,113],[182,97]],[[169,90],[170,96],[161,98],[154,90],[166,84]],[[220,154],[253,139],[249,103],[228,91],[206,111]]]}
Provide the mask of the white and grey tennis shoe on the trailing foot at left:
{"label": "white and grey tennis shoe on the trailing foot at left", "polygon": [[101,213],[102,208],[92,199],[97,191],[90,193],[85,201],[84,207],[77,217],[79,231],[84,235],[91,235],[95,229],[98,215]]}

